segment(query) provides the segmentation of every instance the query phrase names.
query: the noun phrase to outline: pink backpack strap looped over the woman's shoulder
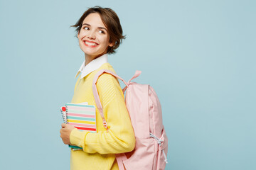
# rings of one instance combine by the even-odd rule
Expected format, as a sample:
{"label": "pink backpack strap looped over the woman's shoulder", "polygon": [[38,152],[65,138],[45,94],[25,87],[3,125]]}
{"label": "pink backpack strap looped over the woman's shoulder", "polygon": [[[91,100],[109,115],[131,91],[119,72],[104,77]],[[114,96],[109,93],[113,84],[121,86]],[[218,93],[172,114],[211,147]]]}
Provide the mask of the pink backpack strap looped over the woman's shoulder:
{"label": "pink backpack strap looped over the woman's shoulder", "polygon": [[114,74],[114,72],[111,72],[110,70],[108,69],[102,69],[100,70],[99,72],[97,72],[95,74],[95,77],[92,81],[92,92],[93,92],[93,96],[95,98],[95,102],[96,102],[96,106],[97,106],[97,109],[100,111],[100,115],[103,119],[103,125],[104,127],[107,129],[107,121],[105,120],[104,118],[104,113],[103,113],[103,108],[102,108],[102,104],[100,103],[100,96],[98,94],[98,91],[97,91],[97,86],[96,86],[96,83],[97,83],[97,79],[99,79],[99,77],[103,74],[103,73],[107,73],[107,74],[112,74],[112,76],[114,77],[117,77],[118,79],[122,80],[125,84],[125,86],[128,86],[127,82],[124,81],[124,79],[122,79],[121,77],[117,76],[117,74]]}

